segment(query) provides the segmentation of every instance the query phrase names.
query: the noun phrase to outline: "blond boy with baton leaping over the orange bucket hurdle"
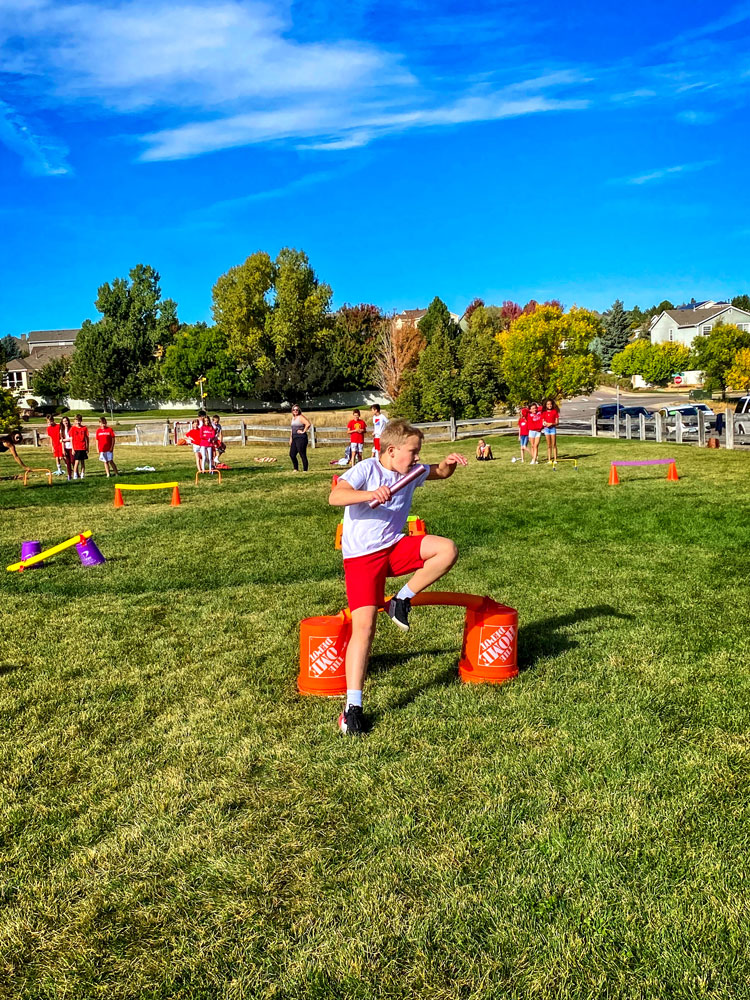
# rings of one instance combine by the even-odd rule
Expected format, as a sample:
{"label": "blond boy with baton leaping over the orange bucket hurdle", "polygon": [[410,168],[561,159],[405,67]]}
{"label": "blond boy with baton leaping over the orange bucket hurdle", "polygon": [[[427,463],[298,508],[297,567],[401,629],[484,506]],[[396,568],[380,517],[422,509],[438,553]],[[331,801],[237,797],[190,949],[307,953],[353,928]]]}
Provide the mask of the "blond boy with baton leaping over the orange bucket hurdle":
{"label": "blond boy with baton leaping over the orange bucket hurdle", "polygon": [[[346,649],[346,704],[339,718],[343,733],[362,736],[362,687],[367,673],[378,608],[385,600],[387,576],[413,573],[386,611],[400,629],[409,629],[411,598],[439,580],[458,558],[449,538],[402,534],[417,486],[427,479],[448,479],[463,455],[447,455],[439,465],[391,496],[390,487],[416,465],[424,435],[405,420],[392,420],[380,437],[380,460],[367,458],[339,477],[328,502],[345,507],[341,540],[352,636]],[[381,506],[372,510],[370,500]]]}

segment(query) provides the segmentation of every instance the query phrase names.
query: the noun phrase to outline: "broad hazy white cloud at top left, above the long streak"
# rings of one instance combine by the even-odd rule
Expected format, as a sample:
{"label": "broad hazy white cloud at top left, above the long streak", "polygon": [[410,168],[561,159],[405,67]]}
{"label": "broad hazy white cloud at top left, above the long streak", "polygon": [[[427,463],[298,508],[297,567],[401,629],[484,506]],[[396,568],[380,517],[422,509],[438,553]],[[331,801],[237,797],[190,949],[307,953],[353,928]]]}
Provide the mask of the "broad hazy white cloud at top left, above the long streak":
{"label": "broad hazy white cloud at top left, above the long streak", "polygon": [[218,108],[412,79],[396,57],[374,46],[300,44],[287,37],[289,27],[260,2],[11,0],[0,10],[0,70],[37,75],[58,98],[118,111]]}

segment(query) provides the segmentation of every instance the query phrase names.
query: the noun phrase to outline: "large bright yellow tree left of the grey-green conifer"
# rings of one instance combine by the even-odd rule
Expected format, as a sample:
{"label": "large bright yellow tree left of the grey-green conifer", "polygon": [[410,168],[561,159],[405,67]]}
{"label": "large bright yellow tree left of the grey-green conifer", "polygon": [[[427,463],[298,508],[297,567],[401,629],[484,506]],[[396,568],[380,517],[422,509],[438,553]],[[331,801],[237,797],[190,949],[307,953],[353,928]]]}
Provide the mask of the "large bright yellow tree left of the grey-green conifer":
{"label": "large bright yellow tree left of the grey-green conifer", "polygon": [[591,392],[600,362],[589,345],[601,332],[601,320],[585,309],[564,313],[558,306],[537,306],[520,316],[498,335],[510,402]]}

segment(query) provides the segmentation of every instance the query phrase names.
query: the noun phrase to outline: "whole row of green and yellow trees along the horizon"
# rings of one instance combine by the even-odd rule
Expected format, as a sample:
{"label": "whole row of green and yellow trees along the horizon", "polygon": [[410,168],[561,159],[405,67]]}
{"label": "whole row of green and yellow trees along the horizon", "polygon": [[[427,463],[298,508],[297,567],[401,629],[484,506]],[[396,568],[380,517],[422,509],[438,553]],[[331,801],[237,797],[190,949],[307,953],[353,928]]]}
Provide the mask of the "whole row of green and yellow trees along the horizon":
{"label": "whole row of green and yellow trees along the horizon", "polygon": [[213,323],[187,324],[162,297],[158,272],[138,264],[128,278],[100,286],[100,318],[83,323],[72,357],[51,360],[32,388],[107,408],[201,391],[231,405],[377,388],[394,400],[394,413],[431,420],[590,392],[610,368],[626,375],[645,363],[638,373],[659,384],[687,367],[680,345],[629,345],[634,331],[647,336],[651,316],[673,308],[666,300],[629,312],[617,300],[600,315],[566,311],[557,300],[475,299],[457,323],[436,297],[419,323],[409,323],[371,304],[333,311],[332,297],[303,251],[284,248],[275,259],[258,251],[214,284]]}

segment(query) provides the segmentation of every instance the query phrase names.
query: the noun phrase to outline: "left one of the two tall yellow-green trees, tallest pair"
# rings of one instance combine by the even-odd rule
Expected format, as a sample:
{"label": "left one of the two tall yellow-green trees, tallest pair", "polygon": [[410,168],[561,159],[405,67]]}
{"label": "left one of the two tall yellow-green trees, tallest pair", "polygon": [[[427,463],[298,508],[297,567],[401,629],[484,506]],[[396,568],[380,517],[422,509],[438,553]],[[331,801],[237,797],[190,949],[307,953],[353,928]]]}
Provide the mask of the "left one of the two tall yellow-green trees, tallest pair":
{"label": "left one of the two tall yellow-green trees, tallest pair", "polygon": [[214,322],[224,331],[234,360],[250,369],[246,379],[250,383],[255,374],[273,365],[266,323],[275,280],[275,264],[258,250],[243,264],[230,267],[213,287]]}

